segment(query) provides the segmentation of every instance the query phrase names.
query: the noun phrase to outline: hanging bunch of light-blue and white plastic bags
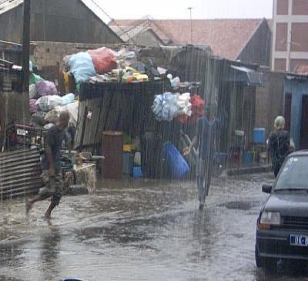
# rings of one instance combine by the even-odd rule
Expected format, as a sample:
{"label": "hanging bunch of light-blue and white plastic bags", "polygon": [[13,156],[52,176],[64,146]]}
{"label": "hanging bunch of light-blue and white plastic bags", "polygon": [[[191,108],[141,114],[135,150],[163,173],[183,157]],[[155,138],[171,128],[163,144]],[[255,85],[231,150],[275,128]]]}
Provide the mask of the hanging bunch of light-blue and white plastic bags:
{"label": "hanging bunch of light-blue and white plastic bags", "polygon": [[173,94],[166,92],[156,95],[152,104],[152,112],[158,121],[171,121],[179,115],[191,115],[190,94]]}

